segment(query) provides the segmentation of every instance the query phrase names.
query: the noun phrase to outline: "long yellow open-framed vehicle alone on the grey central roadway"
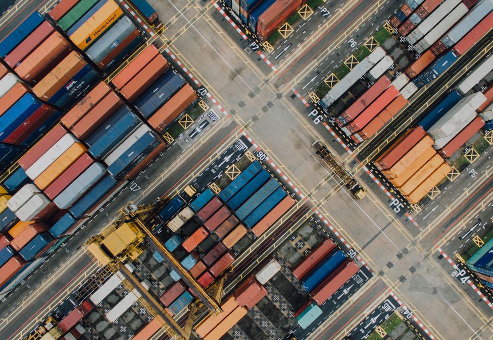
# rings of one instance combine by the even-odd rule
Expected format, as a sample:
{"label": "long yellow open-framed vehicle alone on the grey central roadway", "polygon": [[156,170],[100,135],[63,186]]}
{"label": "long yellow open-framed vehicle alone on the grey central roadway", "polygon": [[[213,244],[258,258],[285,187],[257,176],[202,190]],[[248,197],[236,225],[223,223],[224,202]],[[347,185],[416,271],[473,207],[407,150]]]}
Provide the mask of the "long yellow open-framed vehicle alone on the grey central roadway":
{"label": "long yellow open-framed vehicle alone on the grey central roadway", "polygon": [[316,153],[320,158],[330,167],[330,169],[339,177],[344,185],[353,193],[356,199],[362,199],[366,196],[366,191],[360,186],[358,181],[354,178],[354,175],[346,169],[346,166],[342,164],[325,145],[320,141],[316,141],[312,144]]}

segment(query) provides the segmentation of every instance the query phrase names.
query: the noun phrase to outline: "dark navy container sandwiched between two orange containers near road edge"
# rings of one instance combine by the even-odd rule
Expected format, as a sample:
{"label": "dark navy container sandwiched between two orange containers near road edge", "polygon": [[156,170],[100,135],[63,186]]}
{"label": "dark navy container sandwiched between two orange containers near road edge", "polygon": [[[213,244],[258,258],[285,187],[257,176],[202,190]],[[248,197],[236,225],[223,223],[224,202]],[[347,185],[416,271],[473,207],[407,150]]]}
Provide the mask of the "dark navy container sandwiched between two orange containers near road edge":
{"label": "dark navy container sandwiched between two orange containers near road edge", "polygon": [[148,90],[134,102],[145,118],[151,117],[179,89],[185,85],[185,80],[173,70],[168,70]]}

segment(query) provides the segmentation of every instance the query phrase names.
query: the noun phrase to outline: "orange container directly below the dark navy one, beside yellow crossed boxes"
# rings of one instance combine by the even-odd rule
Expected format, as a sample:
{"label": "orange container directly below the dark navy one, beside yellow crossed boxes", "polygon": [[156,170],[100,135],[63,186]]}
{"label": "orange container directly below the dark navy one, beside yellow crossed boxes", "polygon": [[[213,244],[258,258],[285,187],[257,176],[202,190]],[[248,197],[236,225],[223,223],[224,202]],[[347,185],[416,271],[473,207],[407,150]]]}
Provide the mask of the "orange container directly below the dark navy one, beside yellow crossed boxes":
{"label": "orange container directly below the dark navy one, beside yellow crossed boxes", "polygon": [[180,115],[193,101],[197,99],[195,90],[185,84],[170,100],[149,118],[149,124],[159,132]]}

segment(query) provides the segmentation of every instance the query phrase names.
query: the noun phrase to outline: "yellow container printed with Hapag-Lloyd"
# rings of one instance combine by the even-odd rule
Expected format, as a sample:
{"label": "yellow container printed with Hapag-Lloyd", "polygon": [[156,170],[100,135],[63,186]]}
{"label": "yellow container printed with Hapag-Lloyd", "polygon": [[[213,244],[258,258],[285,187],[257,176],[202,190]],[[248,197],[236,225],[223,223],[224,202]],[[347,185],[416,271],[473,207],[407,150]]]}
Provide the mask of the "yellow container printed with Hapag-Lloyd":
{"label": "yellow container printed with Hapag-Lloyd", "polygon": [[103,5],[79,29],[70,36],[81,50],[86,49],[123,15],[122,9],[113,0]]}

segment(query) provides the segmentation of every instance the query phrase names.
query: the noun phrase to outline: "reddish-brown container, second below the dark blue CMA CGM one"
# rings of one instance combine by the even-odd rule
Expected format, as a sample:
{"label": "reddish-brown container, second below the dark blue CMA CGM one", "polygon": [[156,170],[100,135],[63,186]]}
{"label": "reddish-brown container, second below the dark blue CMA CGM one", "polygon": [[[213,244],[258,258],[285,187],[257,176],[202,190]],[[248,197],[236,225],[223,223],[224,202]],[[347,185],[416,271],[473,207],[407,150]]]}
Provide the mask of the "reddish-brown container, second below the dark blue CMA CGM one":
{"label": "reddish-brown container, second below the dark blue CMA CGM one", "polygon": [[123,101],[115,92],[110,92],[85,114],[71,129],[72,133],[80,140],[85,140],[101,124],[115,113]]}

